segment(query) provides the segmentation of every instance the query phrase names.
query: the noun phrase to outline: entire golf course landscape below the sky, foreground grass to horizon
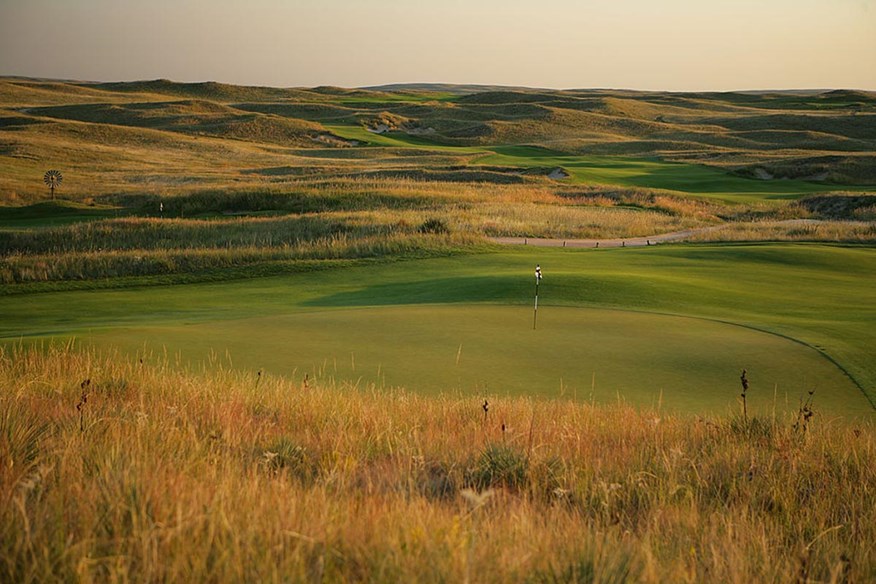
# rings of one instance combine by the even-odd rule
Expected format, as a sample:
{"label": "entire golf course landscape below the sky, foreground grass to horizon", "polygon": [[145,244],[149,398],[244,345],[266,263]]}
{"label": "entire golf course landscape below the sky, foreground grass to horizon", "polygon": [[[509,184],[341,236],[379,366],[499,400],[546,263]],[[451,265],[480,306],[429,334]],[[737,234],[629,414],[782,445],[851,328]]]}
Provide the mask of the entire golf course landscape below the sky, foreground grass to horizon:
{"label": "entire golf course landscape below the sky, foreground grass to horizon", "polygon": [[2,77],[0,581],[872,581],[874,153],[866,91]]}

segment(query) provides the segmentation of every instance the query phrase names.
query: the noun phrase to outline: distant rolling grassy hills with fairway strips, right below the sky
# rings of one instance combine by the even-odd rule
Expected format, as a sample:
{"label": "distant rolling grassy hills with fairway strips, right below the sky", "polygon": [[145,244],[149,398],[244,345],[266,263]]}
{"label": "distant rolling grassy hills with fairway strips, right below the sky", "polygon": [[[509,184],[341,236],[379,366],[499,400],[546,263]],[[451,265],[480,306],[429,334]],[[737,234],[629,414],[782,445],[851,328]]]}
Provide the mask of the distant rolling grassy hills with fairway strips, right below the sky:
{"label": "distant rolling grassy hills with fairway strips, right below the sky", "polygon": [[[308,151],[321,152],[327,170],[367,179],[399,175],[397,151],[406,149],[420,157],[423,180],[440,182],[442,169],[431,168],[431,157],[439,156],[441,165],[448,155],[455,166],[492,164],[481,158],[509,146],[538,147],[572,167],[603,156],[632,167],[648,160],[660,168],[712,169],[716,184],[720,177],[738,179],[740,186],[716,191],[725,198],[732,192],[869,191],[876,185],[876,96],[0,79],[0,202],[7,204],[45,198],[39,177],[46,165],[68,170],[64,192],[74,199],[142,192],[142,174],[115,176],[109,167],[118,152],[107,156],[107,148],[136,151],[136,167],[154,170],[147,184],[170,192],[180,174],[256,186],[265,174],[254,171],[306,168]],[[344,152],[350,149],[372,152],[351,158]],[[506,162],[522,174],[540,166],[527,156]],[[489,179],[471,170],[472,182]],[[702,183],[687,188],[662,181],[660,173],[632,182],[606,180],[608,174],[593,182],[593,174],[571,172],[567,182],[708,194]]]}

